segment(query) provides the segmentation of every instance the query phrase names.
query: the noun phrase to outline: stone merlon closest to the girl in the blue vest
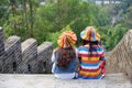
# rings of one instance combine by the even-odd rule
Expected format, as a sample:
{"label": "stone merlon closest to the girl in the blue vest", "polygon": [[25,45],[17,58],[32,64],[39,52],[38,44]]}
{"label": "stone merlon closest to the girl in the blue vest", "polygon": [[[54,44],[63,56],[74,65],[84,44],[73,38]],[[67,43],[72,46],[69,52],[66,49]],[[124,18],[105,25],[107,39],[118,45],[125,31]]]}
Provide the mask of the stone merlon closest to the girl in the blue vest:
{"label": "stone merlon closest to the girl in the blue vest", "polygon": [[44,42],[37,47],[38,73],[51,73],[53,43]]}

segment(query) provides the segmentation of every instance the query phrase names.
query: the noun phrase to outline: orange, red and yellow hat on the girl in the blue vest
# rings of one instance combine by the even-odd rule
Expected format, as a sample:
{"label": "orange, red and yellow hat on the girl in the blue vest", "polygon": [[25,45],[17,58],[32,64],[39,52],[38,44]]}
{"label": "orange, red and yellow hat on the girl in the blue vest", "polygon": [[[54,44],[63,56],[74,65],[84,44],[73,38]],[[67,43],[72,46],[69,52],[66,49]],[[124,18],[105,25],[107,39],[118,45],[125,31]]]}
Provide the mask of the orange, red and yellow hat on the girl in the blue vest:
{"label": "orange, red and yellow hat on the girl in the blue vest", "polygon": [[57,40],[57,44],[63,48],[73,47],[76,42],[77,42],[77,36],[72,31],[63,32]]}

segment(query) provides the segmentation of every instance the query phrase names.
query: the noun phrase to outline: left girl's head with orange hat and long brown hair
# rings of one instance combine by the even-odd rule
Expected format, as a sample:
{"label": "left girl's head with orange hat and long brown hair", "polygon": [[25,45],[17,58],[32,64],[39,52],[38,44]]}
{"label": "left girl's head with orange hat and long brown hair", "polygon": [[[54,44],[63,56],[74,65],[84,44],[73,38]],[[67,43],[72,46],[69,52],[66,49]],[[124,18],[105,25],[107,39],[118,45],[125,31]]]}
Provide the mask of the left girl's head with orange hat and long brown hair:
{"label": "left girl's head with orange hat and long brown hair", "polygon": [[61,34],[57,40],[59,45],[57,66],[67,68],[70,61],[76,56],[75,50],[73,48],[77,41],[77,36],[72,31],[65,31]]}

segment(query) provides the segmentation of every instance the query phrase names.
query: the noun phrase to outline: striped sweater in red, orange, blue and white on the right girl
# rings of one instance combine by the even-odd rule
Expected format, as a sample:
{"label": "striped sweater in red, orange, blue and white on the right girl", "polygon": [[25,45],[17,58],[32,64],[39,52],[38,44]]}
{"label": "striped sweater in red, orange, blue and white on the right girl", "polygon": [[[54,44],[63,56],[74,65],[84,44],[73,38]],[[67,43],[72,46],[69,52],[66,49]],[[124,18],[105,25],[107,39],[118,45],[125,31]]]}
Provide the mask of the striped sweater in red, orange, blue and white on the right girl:
{"label": "striped sweater in red, orange, blue and white on the right girl", "polygon": [[78,78],[82,79],[100,79],[106,74],[103,61],[103,50],[100,45],[94,45],[92,53],[89,53],[89,46],[80,46],[78,48],[78,56],[80,57],[80,66]]}

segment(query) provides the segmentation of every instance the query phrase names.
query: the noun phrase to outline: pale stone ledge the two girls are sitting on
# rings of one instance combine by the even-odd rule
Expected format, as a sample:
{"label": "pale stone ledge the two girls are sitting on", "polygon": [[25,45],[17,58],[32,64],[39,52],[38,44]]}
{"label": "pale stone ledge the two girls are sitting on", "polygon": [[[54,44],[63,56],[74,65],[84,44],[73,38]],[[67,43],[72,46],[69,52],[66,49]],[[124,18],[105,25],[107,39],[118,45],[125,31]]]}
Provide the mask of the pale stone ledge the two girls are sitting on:
{"label": "pale stone ledge the two girls are sitting on", "polygon": [[132,88],[123,74],[110,74],[101,80],[61,80],[53,75],[0,74],[0,88]]}

